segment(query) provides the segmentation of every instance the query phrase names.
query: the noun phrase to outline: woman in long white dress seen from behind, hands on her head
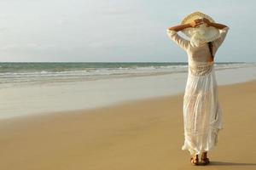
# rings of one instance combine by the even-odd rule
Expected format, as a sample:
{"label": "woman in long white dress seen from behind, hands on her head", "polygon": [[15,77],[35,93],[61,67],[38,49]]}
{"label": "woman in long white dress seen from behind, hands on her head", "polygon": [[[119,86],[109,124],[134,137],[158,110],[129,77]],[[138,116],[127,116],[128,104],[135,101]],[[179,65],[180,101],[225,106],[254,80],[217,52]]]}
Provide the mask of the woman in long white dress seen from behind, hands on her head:
{"label": "woman in long white dress seen from behind, hands on her head", "polygon": [[[198,13],[196,12],[196,14]],[[217,144],[218,131],[223,128],[213,56],[224,42],[229,27],[214,23],[213,20],[210,21],[212,18],[206,14],[200,13],[199,15],[203,17],[168,28],[167,34],[187,52],[189,58],[189,76],[183,95],[185,139],[182,149],[189,150],[192,156],[190,161],[193,165],[199,165],[198,156],[200,154],[201,164],[207,165],[210,163],[207,151],[212,150],[213,146]],[[193,16],[195,18],[195,14]],[[207,42],[207,37],[211,37],[212,33],[207,32],[207,29],[201,31],[200,27],[203,25],[217,30],[218,37],[213,36],[215,39]],[[190,40],[177,34],[177,31],[184,29],[190,29]]]}

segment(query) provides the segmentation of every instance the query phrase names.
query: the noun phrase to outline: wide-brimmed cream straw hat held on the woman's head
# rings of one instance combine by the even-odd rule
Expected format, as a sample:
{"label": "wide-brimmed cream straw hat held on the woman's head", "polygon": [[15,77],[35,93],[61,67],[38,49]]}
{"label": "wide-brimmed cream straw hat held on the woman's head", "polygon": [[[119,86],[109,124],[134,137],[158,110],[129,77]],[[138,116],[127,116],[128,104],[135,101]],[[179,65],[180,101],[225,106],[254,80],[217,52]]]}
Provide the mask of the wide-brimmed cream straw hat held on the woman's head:
{"label": "wide-brimmed cream straw hat held on the woman's head", "polygon": [[[212,17],[207,14],[203,14],[199,11],[196,11],[192,14],[189,14],[182,20],[182,24],[189,24],[193,20],[206,18],[211,22],[215,22]],[[189,27],[182,30],[183,33],[190,38],[190,42],[212,42],[213,40],[219,37],[219,31],[213,26],[207,26],[206,23],[199,25],[199,27]]]}

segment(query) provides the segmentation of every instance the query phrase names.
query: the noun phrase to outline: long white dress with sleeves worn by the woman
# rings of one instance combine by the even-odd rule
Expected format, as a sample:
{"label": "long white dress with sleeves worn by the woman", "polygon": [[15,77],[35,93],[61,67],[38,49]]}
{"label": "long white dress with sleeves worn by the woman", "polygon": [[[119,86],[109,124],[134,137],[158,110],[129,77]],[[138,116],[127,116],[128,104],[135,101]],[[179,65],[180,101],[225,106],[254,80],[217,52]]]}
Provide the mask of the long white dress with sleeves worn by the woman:
{"label": "long white dress with sleeves worn by the woman", "polygon": [[[229,27],[220,31],[212,42],[212,54],[224,42]],[[218,142],[218,131],[223,128],[222,109],[218,102],[218,87],[214,63],[207,43],[194,47],[177,31],[167,29],[167,35],[188,54],[189,74],[183,95],[184,144],[182,149],[191,155],[212,150]]]}

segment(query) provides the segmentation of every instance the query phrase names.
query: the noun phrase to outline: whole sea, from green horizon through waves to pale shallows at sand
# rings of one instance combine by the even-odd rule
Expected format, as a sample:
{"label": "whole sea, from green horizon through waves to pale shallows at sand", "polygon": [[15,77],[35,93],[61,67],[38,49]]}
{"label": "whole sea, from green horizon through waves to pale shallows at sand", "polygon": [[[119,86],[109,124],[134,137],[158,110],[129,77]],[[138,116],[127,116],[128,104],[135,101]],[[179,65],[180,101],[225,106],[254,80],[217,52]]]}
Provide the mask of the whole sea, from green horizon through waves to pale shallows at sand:
{"label": "whole sea, from green horizon through waves to pale shallows at sand", "polygon": [[[256,79],[255,63],[215,64],[218,85]],[[0,119],[180,94],[187,63],[0,63]]]}

